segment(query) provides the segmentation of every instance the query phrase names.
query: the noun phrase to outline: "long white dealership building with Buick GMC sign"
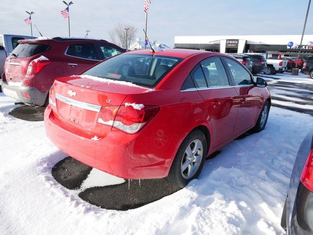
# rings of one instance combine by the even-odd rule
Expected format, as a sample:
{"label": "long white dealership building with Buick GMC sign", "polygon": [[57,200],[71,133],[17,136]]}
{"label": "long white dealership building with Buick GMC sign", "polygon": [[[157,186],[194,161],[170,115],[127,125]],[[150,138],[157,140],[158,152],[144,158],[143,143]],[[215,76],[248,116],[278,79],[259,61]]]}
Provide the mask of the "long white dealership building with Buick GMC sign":
{"label": "long white dealership building with Buick GMC sign", "polygon": [[[199,49],[221,53],[268,52],[297,55],[301,35],[230,35],[230,36],[175,36],[175,48]],[[313,55],[307,46],[313,35],[304,35],[301,57]],[[293,42],[292,47],[288,43]]]}

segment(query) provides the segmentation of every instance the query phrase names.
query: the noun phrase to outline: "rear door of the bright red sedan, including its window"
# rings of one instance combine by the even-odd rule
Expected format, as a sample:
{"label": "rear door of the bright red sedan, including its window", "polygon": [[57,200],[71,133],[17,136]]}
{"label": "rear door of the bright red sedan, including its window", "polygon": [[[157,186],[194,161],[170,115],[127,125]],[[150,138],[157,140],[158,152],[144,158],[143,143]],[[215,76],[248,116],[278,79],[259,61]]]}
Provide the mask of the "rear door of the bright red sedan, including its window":
{"label": "rear door of the bright red sedan, including its window", "polygon": [[207,58],[191,72],[199,94],[205,101],[207,119],[213,130],[213,147],[233,137],[238,106],[234,103],[235,89],[230,85],[219,57]]}

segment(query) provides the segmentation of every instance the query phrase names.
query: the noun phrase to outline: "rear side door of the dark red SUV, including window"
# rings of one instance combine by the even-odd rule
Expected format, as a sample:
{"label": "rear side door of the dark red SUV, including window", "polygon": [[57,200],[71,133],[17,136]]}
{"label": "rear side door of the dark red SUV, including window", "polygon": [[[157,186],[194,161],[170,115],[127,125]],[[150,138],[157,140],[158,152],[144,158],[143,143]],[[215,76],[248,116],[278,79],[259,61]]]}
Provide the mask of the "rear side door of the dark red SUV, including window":
{"label": "rear side door of the dark red SUV, including window", "polygon": [[93,43],[71,43],[65,49],[62,60],[69,75],[76,75],[101,60]]}

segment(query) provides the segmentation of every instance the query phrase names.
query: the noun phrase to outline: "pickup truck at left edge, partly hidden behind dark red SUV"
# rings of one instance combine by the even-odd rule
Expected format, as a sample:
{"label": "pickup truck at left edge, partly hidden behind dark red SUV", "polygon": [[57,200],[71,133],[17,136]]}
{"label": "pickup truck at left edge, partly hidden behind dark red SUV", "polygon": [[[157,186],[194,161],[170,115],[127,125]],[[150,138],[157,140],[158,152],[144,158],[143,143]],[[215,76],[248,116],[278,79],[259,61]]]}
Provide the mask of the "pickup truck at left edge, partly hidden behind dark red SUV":
{"label": "pickup truck at left edge, partly hidden behind dark red SUV", "polygon": [[[35,37],[0,34],[0,75],[3,73],[3,67],[6,57],[19,45],[18,41],[22,39],[31,39]],[[0,84],[1,85],[1,84]]]}

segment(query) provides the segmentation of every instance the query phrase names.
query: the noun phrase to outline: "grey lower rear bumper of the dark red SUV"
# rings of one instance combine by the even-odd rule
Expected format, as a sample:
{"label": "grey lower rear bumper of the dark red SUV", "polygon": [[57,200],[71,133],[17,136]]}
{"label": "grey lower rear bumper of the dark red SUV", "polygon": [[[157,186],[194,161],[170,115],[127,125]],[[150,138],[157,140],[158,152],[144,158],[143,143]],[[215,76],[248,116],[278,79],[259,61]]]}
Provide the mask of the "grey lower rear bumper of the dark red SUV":
{"label": "grey lower rear bumper of the dark red SUV", "polygon": [[[40,92],[34,87],[22,87],[22,86],[10,86],[6,82],[2,82],[2,92],[19,102],[25,104],[33,104],[42,106],[45,104],[45,99],[48,94],[48,90]],[[30,98],[26,98],[23,94],[29,95]]]}

